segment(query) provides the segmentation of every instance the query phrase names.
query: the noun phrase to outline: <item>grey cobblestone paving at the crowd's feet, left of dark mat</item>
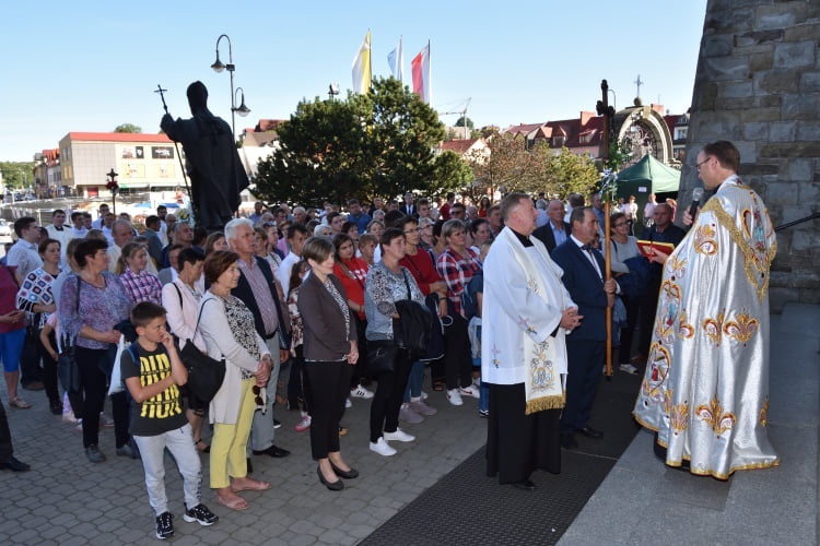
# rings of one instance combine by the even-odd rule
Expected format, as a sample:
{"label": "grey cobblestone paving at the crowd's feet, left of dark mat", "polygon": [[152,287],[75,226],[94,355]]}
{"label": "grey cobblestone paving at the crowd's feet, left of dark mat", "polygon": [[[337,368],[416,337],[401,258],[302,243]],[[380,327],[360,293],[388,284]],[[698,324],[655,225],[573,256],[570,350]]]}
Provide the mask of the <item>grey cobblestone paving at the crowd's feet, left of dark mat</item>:
{"label": "grey cobblestone paving at the crowd's feet, left of dark mat", "polygon": [[[373,385],[375,387],[375,385]],[[430,392],[430,389],[427,388]],[[9,407],[14,453],[32,465],[27,473],[0,471],[2,521],[0,544],[155,544],[154,514],[148,503],[140,461],[117,456],[114,429],[101,430],[99,448],[108,460],[92,464],[73,425],[48,412],[43,392],[21,391],[31,410]],[[244,492],[250,507],[236,512],[218,505],[208,488],[208,454],[202,454],[202,502],[220,517],[202,527],[183,521],[184,498],[176,466],[166,454],[166,491],[175,515],[177,544],[356,544],[427,487],[479,449],[487,422],[478,416],[478,401],[465,399],[450,406],[443,393],[431,392],[440,413],[420,425],[401,424],[414,442],[393,442],[398,453],[383,458],[367,449],[370,401],[353,399],[343,425],[342,454],[361,476],[345,480],[333,492],[318,483],[311,459],[308,432],[293,426],[298,412],[278,405],[282,422],[276,443],[292,454],[284,459],[254,456],[254,477],[273,487]],[[109,415],[109,405],[106,404]],[[208,427],[204,427],[208,429]],[[203,430],[210,439],[210,431]],[[412,537],[408,537],[412,542]]]}

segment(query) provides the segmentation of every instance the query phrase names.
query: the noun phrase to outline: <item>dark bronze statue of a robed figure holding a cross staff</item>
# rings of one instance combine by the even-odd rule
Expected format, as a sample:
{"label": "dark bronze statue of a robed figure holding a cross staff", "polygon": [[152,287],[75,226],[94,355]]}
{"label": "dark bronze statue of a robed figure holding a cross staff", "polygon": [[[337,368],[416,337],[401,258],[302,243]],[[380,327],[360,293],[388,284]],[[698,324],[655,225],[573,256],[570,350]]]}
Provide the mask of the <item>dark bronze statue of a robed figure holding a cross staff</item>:
{"label": "dark bronze statue of a robed figure holding a cross staff", "polygon": [[202,82],[188,86],[188,104],[192,118],[174,121],[165,114],[160,127],[185,150],[197,225],[222,229],[239,207],[239,192],[248,187],[248,177],[231,126],[208,110],[208,90]]}

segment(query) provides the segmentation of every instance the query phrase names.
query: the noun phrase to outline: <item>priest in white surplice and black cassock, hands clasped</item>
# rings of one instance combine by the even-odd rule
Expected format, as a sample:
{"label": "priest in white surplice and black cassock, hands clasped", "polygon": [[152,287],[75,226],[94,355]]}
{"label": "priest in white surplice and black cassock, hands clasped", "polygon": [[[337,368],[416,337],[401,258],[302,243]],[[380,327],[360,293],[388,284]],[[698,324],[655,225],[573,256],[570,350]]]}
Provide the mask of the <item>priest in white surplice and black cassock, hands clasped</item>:
{"label": "priest in white surplice and black cassock, hands clasped", "polygon": [[536,468],[561,472],[564,336],[582,317],[561,268],[529,235],[538,212],[524,193],[501,201],[506,227],[484,261],[481,381],[490,387],[487,474],[534,490]]}

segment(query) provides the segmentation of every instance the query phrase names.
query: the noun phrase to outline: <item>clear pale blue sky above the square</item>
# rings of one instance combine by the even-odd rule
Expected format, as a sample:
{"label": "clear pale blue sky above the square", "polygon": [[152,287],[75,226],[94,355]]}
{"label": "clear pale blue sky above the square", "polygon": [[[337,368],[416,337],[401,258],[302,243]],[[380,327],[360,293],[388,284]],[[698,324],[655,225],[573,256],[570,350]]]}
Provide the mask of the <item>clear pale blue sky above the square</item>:
{"label": "clear pale blue sky above the square", "polygon": [[[576,117],[594,110],[600,81],[619,108],[635,96],[675,114],[689,108],[706,0],[488,2],[7,2],[0,46],[0,161],[31,161],[71,131],[134,123],[157,132],[163,114],[187,117],[185,90],[202,81],[210,109],[230,122],[227,72],[218,74],[220,34],[233,44],[235,85],[259,118],[288,118],[304,97],[352,86],[353,57],[370,29],[373,74],[403,36],[410,60],[427,40],[433,107],[461,110],[481,127]],[[227,62],[227,44],[220,44]],[[444,116],[452,124],[458,116]],[[239,121],[242,120],[242,121]]]}

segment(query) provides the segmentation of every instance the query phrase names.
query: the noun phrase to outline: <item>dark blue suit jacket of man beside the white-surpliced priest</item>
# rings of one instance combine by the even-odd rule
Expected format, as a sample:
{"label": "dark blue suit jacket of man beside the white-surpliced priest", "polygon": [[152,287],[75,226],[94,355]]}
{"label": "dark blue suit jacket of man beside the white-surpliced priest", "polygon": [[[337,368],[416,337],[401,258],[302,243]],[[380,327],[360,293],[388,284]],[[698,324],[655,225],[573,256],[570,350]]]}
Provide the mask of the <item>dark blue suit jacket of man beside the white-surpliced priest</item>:
{"label": "dark blue suit jacket of man beside the white-surpliced priest", "polygon": [[[593,250],[593,256],[604,273],[606,264],[600,252]],[[550,257],[564,270],[564,286],[578,306],[578,314],[584,317],[566,341],[606,341],[607,294],[600,275],[572,238],[555,247]]]}

